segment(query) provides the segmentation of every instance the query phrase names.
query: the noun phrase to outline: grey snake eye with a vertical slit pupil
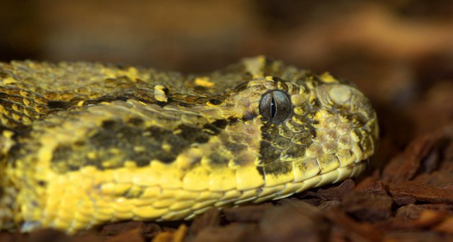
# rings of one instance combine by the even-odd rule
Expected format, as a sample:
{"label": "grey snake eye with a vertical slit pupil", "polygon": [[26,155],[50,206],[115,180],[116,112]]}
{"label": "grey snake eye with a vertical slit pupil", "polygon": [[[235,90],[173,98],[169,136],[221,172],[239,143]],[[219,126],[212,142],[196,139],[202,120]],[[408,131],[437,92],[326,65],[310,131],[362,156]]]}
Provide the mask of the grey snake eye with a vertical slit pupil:
{"label": "grey snake eye with a vertical slit pupil", "polygon": [[274,124],[283,122],[291,115],[292,105],[286,93],[270,91],[260,100],[260,114]]}

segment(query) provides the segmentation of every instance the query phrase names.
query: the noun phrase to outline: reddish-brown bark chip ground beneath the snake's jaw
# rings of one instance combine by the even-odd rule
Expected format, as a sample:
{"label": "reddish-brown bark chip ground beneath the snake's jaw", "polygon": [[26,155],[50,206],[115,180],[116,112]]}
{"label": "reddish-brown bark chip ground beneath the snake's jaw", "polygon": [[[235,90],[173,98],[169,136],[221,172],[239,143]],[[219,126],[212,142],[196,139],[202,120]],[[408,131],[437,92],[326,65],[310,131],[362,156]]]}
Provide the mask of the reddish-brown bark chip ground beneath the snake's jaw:
{"label": "reddish-brown bark chip ground beneath the snake's jaw", "polygon": [[0,241],[453,241],[453,126],[413,139],[382,169],[191,223],[127,221],[71,238],[52,230]]}

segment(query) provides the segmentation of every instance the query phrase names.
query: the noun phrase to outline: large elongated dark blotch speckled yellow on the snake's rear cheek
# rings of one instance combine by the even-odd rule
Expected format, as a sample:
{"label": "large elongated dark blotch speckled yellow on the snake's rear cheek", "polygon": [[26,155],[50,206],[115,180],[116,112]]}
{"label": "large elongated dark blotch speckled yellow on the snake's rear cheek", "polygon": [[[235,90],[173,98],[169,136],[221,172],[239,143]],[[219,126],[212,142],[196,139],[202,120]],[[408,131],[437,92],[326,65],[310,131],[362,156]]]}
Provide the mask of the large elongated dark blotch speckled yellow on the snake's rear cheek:
{"label": "large elongated dark blotch speckled yellow on the snake's rear cheek", "polygon": [[[164,127],[137,125],[139,119],[130,121],[105,120],[84,142],[57,146],[52,156],[52,168],[65,173],[83,166],[96,166],[100,170],[118,168],[125,161],[134,161],[139,167],[148,166],[154,159],[171,163],[191,144],[206,143],[212,136],[203,132],[202,127],[193,125],[180,125],[178,132],[173,132]],[[163,144],[171,149],[162,149]],[[143,149],[134,149],[139,146]],[[113,152],[113,149],[119,152]],[[88,156],[90,152],[96,156]],[[110,161],[108,166],[103,165],[105,161]]]}

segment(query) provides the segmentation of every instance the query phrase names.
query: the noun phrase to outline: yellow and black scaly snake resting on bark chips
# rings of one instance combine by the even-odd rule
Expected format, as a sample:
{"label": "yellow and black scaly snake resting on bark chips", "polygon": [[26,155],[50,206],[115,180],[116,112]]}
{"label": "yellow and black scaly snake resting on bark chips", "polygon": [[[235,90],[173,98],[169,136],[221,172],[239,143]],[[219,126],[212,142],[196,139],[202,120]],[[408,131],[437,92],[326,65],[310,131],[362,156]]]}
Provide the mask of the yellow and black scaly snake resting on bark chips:
{"label": "yellow and black scaly snake resting on bark chips", "polygon": [[205,74],[0,63],[0,228],[193,219],[363,171],[379,139],[350,81],[264,56]]}

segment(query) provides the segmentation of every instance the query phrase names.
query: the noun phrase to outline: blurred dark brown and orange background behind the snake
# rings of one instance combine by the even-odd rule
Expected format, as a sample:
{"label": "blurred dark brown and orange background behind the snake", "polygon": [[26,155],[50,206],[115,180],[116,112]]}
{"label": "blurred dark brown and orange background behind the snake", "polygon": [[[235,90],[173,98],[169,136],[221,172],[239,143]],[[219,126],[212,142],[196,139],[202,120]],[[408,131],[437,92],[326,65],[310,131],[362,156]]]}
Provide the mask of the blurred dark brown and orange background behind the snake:
{"label": "blurred dark brown and orange background behind the snake", "polygon": [[378,163],[452,123],[452,1],[0,1],[1,61],[193,72],[258,54],[357,83],[381,122]]}

